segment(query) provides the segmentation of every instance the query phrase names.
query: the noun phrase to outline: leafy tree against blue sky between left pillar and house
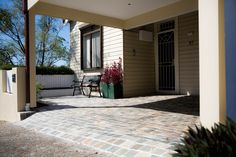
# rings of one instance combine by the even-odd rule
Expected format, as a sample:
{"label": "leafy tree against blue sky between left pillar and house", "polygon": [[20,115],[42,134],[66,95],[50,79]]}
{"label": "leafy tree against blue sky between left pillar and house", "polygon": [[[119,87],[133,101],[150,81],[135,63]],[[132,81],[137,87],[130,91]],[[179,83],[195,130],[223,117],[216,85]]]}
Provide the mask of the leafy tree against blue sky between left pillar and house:
{"label": "leafy tree against blue sky between left pillar and house", "polygon": [[59,60],[68,60],[69,51],[65,39],[59,36],[63,28],[62,21],[40,16],[36,32],[36,63],[39,66],[52,66]]}

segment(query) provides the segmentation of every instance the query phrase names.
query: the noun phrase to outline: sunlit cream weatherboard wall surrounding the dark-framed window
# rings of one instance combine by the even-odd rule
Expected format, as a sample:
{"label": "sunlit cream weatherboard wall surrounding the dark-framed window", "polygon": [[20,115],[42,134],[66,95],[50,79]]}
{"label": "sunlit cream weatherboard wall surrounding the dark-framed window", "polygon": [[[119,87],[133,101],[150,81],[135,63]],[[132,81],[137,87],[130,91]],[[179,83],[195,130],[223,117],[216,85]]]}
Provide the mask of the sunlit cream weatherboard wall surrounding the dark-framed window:
{"label": "sunlit cream weatherboard wall surrounding the dark-framed window", "polygon": [[[81,38],[79,28],[84,25],[85,23],[82,22],[71,22],[70,25],[70,67],[75,71],[76,76],[80,78],[85,73],[102,73],[103,71],[103,69],[93,71],[81,70]],[[123,30],[104,26],[102,38],[103,66],[111,65],[113,62],[119,61],[119,58],[123,60]]]}

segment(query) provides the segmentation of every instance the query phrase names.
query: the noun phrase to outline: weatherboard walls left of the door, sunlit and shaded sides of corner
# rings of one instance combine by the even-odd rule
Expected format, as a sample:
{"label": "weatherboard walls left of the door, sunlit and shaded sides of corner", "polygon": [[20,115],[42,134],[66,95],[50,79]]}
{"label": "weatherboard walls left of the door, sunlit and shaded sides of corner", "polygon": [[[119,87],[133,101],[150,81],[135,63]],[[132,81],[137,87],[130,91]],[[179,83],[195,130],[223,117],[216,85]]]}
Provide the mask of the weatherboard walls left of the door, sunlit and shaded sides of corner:
{"label": "weatherboard walls left of the door, sunlit and shaded sides of corner", "polygon": [[[84,25],[82,22],[71,22],[70,25],[70,67],[75,71],[77,78],[81,78],[85,73],[102,73],[103,71],[102,69],[93,71],[81,69],[80,28]],[[153,47],[153,42],[139,41],[137,32],[103,27],[103,65],[104,67],[111,65],[121,58],[124,72],[124,97],[155,93]],[[133,49],[137,49],[139,53],[137,56],[133,56]],[[140,53],[143,55],[140,55]],[[143,57],[144,59],[142,59]],[[148,66],[145,66],[147,64]]]}

